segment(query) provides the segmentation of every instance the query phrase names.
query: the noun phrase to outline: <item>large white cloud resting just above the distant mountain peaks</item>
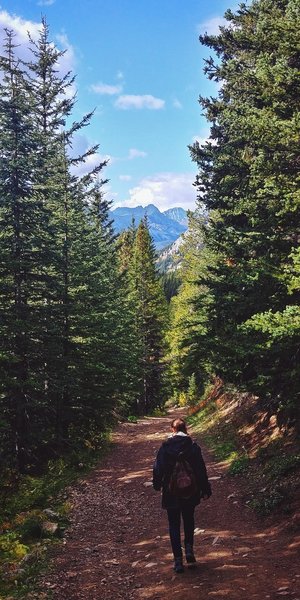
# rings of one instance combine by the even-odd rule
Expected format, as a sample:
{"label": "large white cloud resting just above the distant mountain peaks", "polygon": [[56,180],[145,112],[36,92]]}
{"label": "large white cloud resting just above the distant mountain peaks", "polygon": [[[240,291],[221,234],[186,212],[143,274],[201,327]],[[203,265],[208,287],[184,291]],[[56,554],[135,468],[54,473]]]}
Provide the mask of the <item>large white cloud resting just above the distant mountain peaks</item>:
{"label": "large white cloud resting just above the distant mountain peaks", "polygon": [[147,206],[155,204],[160,210],[181,206],[195,209],[197,190],[191,173],[158,173],[145,177],[129,190],[129,199],[119,206]]}

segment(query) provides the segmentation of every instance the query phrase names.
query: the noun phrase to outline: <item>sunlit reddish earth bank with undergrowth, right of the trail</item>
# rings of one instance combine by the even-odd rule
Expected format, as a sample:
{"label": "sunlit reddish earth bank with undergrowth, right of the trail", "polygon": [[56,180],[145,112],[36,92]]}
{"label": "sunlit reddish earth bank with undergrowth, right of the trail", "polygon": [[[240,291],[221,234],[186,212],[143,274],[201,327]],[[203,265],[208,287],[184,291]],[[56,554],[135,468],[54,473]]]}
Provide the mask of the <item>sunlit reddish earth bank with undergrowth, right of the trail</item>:
{"label": "sunlit reddish earth bank with undergrowth, right of the trail", "polygon": [[261,517],[299,510],[300,439],[259,398],[218,381],[189,422],[229,476],[242,476],[245,503]]}

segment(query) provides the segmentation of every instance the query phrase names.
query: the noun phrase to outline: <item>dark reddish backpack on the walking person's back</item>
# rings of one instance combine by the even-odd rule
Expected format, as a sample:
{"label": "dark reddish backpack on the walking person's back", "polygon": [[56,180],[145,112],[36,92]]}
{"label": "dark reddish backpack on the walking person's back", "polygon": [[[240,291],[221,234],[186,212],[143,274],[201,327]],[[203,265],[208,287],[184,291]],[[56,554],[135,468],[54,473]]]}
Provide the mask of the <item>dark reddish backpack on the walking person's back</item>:
{"label": "dark reddish backpack on the walking person's back", "polygon": [[181,452],[175,462],[169,482],[169,491],[173,496],[188,500],[197,492],[197,481],[190,463]]}

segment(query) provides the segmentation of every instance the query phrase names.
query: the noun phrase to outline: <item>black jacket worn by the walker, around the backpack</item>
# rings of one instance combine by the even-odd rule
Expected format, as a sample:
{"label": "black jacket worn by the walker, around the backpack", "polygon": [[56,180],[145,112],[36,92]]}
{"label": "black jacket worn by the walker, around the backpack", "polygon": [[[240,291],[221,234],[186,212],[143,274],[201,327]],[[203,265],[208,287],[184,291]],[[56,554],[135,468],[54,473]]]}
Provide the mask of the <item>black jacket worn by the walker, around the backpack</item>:
{"label": "black jacket worn by the walker, around the backpack", "polygon": [[[193,468],[198,483],[196,494],[189,500],[179,500],[169,491],[170,477],[180,452],[184,452],[186,460]],[[163,508],[176,508],[182,503],[196,506],[199,504],[201,497],[211,496],[211,487],[200,446],[193,442],[189,435],[173,435],[166,442],[163,442],[153,467],[153,487],[157,491],[162,488]]]}

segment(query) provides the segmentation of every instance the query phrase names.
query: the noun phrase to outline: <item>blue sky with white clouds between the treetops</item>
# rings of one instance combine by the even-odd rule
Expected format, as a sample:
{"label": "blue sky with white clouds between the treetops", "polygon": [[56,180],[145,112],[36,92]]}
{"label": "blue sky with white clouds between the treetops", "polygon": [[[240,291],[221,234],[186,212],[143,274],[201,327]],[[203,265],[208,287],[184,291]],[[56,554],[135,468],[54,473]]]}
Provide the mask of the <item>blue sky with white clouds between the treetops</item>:
{"label": "blue sky with white clouds between the treetops", "polygon": [[[233,0],[0,0],[3,28],[14,29],[26,55],[27,31],[41,15],[50,37],[67,49],[61,72],[76,74],[73,118],[95,108],[74,151],[100,144],[109,158],[107,198],[115,206],[154,203],[193,209],[197,172],[188,144],[209,127],[199,94],[217,90],[203,74],[199,34],[215,33]],[[99,157],[90,160],[92,166]]]}

